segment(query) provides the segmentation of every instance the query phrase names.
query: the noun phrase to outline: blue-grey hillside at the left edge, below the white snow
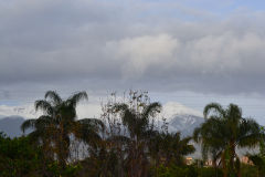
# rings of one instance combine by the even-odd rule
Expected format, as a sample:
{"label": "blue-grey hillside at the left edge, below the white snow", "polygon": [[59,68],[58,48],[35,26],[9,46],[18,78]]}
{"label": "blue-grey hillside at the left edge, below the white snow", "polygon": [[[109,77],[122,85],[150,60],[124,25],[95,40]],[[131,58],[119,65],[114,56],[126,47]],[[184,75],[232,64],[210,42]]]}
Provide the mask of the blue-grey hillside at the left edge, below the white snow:
{"label": "blue-grey hillside at the left edge, below the white snow", "polygon": [[21,116],[0,117],[0,132],[6,133],[9,137],[18,137],[22,135],[21,124],[25,118]]}

